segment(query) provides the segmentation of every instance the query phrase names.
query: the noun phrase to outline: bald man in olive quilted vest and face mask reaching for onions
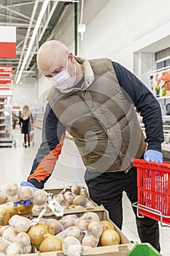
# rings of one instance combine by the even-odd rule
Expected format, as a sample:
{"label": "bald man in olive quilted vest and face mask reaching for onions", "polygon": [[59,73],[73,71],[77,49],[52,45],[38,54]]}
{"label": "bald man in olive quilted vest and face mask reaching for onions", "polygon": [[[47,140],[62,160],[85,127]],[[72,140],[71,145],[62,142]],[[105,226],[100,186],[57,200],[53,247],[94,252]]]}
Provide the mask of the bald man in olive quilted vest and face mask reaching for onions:
{"label": "bald man in olive quilted vest and face mask reaching for onions", "polygon": [[[125,67],[110,59],[74,56],[59,41],[45,42],[39,48],[37,64],[52,87],[42,143],[28,181],[37,188],[45,186],[69,132],[86,167],[90,197],[107,208],[110,219],[121,229],[123,191],[131,203],[137,201],[136,168],[131,158],[163,162],[158,101]],[[146,138],[136,110],[143,117]],[[160,251],[158,222],[136,216],[136,224],[141,241]]]}

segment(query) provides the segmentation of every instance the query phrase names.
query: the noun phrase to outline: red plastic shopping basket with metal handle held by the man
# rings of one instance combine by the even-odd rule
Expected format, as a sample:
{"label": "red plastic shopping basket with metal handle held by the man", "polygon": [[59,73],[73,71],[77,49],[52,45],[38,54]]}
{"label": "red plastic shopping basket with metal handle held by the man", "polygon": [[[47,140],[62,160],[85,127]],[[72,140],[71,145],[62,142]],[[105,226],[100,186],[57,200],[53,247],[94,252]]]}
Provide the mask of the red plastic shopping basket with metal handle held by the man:
{"label": "red plastic shopping basket with metal handle held by the man", "polygon": [[137,168],[137,214],[170,225],[170,162],[132,159]]}

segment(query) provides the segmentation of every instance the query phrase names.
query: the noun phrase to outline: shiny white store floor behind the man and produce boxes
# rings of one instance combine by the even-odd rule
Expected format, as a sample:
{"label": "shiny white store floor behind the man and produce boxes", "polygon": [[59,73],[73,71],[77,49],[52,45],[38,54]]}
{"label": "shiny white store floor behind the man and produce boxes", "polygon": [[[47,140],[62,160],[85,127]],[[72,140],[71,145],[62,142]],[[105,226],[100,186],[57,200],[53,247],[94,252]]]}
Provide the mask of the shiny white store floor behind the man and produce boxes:
{"label": "shiny white store floor behind the man and produce boxes", "polygon": [[[33,143],[31,143],[29,148],[23,147],[23,135],[20,134],[20,129],[18,126],[15,128],[15,130],[12,130],[12,133],[16,146],[12,145],[11,148],[0,147],[0,189],[3,189],[6,184],[10,182],[15,181],[16,183],[20,184],[20,181],[26,181],[38,148],[36,143],[34,146]],[[59,184],[60,187],[64,186],[63,181],[60,181]],[[123,212],[123,233],[125,233],[130,241],[139,242],[134,214],[131,210],[131,203],[125,194],[123,195]],[[163,256],[170,256],[170,227],[160,227],[160,231],[161,254]]]}

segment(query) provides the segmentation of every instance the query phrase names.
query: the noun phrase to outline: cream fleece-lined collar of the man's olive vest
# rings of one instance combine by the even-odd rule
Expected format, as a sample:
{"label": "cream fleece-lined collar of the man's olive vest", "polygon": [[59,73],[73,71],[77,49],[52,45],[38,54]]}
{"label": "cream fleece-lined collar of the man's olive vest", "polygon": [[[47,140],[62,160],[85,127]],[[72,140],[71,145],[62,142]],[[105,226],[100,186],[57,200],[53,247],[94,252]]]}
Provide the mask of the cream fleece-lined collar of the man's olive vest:
{"label": "cream fleece-lined collar of the man's olive vest", "polygon": [[85,85],[86,85],[86,88],[88,88],[95,79],[90,62],[88,61],[88,59],[84,59],[80,56],[74,56],[74,57],[78,63],[82,64],[83,74],[85,77]]}

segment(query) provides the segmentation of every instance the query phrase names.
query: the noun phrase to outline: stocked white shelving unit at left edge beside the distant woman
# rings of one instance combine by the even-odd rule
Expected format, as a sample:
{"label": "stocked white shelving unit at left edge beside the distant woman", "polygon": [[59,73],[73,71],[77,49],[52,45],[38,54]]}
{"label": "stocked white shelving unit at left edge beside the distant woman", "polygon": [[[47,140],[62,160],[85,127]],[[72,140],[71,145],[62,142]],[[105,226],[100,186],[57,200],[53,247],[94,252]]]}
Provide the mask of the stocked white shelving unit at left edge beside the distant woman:
{"label": "stocked white shelving unit at left edge beside the distant woman", "polygon": [[0,96],[0,146],[12,146],[12,111],[7,107],[7,97]]}

